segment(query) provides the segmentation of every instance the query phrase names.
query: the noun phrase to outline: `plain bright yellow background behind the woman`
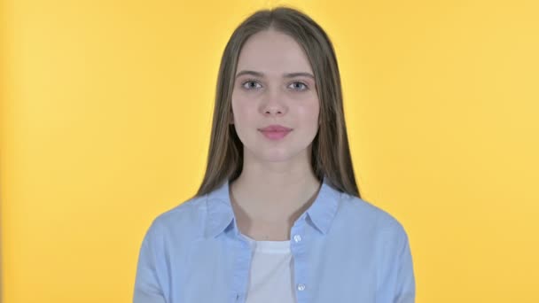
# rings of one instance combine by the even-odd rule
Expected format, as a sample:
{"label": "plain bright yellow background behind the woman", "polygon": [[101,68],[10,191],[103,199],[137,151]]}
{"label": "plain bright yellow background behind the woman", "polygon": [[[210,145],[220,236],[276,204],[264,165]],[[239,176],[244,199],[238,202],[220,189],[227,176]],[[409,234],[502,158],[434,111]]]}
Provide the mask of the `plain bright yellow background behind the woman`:
{"label": "plain bright yellow background behind the woman", "polygon": [[[129,302],[191,197],[232,30],[267,1],[0,0],[2,298]],[[418,302],[539,302],[539,4],[292,1],[332,38],[363,198]]]}

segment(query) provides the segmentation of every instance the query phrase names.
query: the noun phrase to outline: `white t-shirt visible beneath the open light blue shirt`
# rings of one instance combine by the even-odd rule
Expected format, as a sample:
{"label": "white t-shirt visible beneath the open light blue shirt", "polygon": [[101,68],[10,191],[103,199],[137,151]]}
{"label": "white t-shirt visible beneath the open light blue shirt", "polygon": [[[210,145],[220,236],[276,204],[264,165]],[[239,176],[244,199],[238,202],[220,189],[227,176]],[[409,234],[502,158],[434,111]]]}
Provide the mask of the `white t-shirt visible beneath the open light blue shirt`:
{"label": "white t-shirt visible beneath the open light blue shirt", "polygon": [[295,303],[290,241],[256,241],[242,236],[254,251],[246,303]]}

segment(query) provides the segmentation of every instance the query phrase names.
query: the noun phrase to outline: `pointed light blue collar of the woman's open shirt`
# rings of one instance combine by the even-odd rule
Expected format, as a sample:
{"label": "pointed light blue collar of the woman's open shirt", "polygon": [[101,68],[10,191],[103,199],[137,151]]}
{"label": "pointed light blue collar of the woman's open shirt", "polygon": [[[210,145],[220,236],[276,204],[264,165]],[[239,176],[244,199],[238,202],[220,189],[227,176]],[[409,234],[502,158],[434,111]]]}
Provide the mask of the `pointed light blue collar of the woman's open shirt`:
{"label": "pointed light blue collar of the woman's open shirt", "polygon": [[[207,194],[207,223],[205,237],[216,237],[227,229],[235,220],[234,212],[230,204],[230,186],[228,179],[215,190]],[[341,192],[332,187],[326,178],[322,179],[322,185],[315,201],[309,206],[300,219],[305,216],[313,223],[316,229],[326,234],[330,229],[332,220],[337,213]],[[236,225],[236,224],[234,224]],[[236,228],[236,233],[238,230]]]}

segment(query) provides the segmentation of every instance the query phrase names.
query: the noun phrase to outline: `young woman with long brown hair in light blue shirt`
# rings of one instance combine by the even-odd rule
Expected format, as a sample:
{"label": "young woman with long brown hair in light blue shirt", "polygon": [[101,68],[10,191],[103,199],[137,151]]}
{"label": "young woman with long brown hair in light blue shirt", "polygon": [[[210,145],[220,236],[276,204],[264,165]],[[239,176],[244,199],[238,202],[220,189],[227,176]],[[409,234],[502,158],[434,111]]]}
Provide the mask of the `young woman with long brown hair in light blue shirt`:
{"label": "young woman with long brown hair in light blue shirt", "polygon": [[360,198],[340,74],[297,10],[255,12],[217,81],[198,193],[152,221],[136,303],[414,302],[407,234]]}

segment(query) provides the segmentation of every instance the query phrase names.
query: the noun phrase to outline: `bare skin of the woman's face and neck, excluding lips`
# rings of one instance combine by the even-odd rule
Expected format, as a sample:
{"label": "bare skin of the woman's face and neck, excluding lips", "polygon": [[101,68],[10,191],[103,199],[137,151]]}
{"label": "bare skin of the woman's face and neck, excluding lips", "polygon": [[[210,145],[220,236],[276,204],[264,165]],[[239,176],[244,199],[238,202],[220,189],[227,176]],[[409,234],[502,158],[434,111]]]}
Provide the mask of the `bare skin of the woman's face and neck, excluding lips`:
{"label": "bare skin of the woman's face and neck, excluding lips", "polygon": [[[230,183],[230,200],[244,235],[289,240],[294,221],[313,203],[321,185],[310,165],[319,126],[316,82],[301,46],[274,30],[247,40],[238,58],[237,74],[242,71],[258,74],[238,75],[232,92],[230,123],[244,144],[244,165]],[[293,130],[269,140],[260,128],[270,124]]]}

